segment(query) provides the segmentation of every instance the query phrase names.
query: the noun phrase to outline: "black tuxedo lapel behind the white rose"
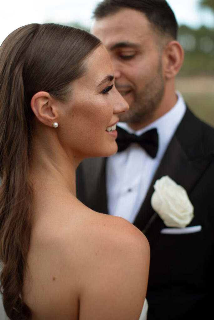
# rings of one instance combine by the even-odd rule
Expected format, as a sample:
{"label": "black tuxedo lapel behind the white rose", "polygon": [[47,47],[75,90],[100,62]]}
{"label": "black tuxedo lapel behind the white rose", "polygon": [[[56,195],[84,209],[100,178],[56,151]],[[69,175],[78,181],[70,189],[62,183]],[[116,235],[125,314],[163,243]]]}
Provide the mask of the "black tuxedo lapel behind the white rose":
{"label": "black tuxedo lapel behind the white rose", "polygon": [[134,221],[134,225],[147,236],[150,245],[156,240],[160,230],[166,227],[150,204],[154,192],[153,185],[157,179],[168,175],[177,184],[182,185],[190,195],[195,183],[210,162],[210,157],[203,155],[201,139],[201,122],[187,109]]}

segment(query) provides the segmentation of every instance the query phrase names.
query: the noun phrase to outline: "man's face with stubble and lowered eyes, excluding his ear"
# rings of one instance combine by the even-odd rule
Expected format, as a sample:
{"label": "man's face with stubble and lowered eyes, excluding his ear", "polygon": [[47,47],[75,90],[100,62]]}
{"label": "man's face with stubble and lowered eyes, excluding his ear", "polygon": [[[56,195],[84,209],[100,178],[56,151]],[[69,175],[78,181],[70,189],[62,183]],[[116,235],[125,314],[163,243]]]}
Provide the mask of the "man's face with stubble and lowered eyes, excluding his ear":
{"label": "man's face with stubble and lowered eyes, excluding his ear", "polygon": [[133,9],[121,9],[96,20],[91,32],[107,48],[116,88],[130,106],[120,120],[138,128],[153,121],[163,98],[164,80],[158,35],[146,16]]}

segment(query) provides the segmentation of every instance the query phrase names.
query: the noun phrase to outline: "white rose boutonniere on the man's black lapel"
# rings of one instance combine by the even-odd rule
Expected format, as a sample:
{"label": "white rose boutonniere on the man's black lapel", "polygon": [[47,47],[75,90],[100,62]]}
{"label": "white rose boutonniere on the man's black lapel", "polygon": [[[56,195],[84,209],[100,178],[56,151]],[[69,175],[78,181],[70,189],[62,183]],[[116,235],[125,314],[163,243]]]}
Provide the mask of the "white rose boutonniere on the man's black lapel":
{"label": "white rose boutonniere on the man's black lapel", "polygon": [[154,184],[151,206],[167,227],[185,228],[193,220],[194,207],[186,190],[168,176]]}

